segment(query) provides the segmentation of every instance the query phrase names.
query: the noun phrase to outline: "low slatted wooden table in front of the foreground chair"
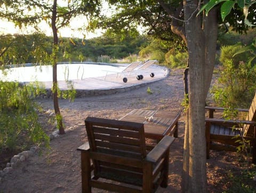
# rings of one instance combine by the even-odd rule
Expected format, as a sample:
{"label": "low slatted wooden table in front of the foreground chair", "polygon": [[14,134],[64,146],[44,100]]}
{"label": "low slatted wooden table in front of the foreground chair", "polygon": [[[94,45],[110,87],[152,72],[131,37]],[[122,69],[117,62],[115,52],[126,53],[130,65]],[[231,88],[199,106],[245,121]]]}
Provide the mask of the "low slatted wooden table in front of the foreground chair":
{"label": "low slatted wooden table in front of the foreground chair", "polygon": [[[145,117],[153,116],[152,121]],[[178,138],[178,120],[180,112],[134,109],[120,120],[144,123],[145,137],[160,141],[165,135]]]}

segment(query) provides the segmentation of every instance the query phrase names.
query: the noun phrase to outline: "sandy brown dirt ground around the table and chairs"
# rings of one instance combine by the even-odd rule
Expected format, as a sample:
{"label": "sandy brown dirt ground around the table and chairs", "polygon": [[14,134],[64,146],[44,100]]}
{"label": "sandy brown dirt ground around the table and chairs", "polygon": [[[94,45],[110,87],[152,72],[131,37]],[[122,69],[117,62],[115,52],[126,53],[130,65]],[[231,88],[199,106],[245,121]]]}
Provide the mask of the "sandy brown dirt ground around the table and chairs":
{"label": "sandy brown dirt ground around the table and chairs", "polygon": [[[147,92],[151,90],[152,94]],[[154,109],[182,112],[179,119],[179,138],[170,150],[169,186],[157,192],[181,192],[182,148],[185,115],[183,98],[183,70],[171,71],[166,79],[125,93],[77,98],[74,102],[60,100],[66,134],[51,141],[51,149],[30,157],[5,175],[0,192],[81,192],[81,160],[76,150],[86,141],[84,119],[87,116],[118,119],[133,110]],[[45,110],[53,110],[52,100],[38,100]],[[45,120],[47,121],[47,120]],[[53,128],[49,128],[48,133]],[[237,154],[211,152],[207,160],[207,189],[222,192],[228,187],[228,171],[240,171]],[[105,192],[93,189],[93,192]]]}

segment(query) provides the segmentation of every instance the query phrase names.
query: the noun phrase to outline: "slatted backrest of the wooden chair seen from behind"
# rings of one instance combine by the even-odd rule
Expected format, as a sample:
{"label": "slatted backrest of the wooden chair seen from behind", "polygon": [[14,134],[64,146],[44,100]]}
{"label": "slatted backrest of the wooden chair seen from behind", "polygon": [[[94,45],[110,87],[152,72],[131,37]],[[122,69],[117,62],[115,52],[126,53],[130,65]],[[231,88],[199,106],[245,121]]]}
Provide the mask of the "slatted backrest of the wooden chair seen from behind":
{"label": "slatted backrest of the wooden chair seen from behind", "polygon": [[87,117],[85,126],[92,151],[140,159],[147,155],[142,123]]}

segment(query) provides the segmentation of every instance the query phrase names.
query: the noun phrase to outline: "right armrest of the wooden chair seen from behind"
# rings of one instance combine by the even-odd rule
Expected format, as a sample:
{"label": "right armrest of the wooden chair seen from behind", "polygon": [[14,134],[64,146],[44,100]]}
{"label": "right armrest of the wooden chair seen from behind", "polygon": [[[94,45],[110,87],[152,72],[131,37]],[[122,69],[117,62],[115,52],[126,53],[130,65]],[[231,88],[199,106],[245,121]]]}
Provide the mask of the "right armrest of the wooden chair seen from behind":
{"label": "right armrest of the wooden chair seen from behind", "polygon": [[165,135],[164,138],[159,143],[157,143],[154,149],[148,153],[146,161],[157,163],[163,157],[165,152],[170,150],[170,146],[174,139],[175,138],[172,136]]}

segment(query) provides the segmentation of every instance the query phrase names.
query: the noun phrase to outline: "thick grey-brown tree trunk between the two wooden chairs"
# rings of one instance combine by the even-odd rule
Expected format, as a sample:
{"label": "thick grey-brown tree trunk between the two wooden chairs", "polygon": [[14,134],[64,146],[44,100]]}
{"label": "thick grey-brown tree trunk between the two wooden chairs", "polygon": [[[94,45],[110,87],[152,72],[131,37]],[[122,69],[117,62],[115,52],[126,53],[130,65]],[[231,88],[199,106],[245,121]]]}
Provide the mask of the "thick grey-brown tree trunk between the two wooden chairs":
{"label": "thick grey-brown tree trunk between the two wooden chairs", "polygon": [[[184,1],[185,20],[197,1]],[[217,14],[191,17],[186,23],[189,63],[189,108],[183,152],[183,192],[206,192],[205,99],[212,79],[217,42]],[[202,22],[204,21],[204,22]],[[211,28],[210,28],[211,26]]]}

